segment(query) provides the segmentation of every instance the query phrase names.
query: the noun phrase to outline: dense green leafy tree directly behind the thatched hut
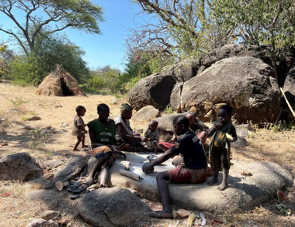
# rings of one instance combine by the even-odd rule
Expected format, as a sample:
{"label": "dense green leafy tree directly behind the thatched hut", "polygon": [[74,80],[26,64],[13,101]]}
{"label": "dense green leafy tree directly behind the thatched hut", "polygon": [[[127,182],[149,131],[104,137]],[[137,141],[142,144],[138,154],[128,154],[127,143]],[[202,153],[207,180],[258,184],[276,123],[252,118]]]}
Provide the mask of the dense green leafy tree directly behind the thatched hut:
{"label": "dense green leafy tree directly behind the thatched hut", "polygon": [[38,85],[57,64],[61,64],[78,82],[83,83],[89,77],[83,55],[84,51],[71,43],[66,35],[38,36],[34,51],[12,59],[10,77],[21,85]]}

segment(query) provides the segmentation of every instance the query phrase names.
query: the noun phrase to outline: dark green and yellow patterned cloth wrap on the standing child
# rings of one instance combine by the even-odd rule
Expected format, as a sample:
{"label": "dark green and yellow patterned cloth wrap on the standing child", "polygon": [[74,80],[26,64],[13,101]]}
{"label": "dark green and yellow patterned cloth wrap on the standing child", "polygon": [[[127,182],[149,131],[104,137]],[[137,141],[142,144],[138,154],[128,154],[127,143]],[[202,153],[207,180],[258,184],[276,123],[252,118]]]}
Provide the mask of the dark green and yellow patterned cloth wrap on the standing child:
{"label": "dark green and yellow patterned cloth wrap on the standing child", "polygon": [[[217,122],[217,121],[216,121]],[[214,124],[216,123],[214,122]],[[230,142],[226,138],[226,133],[231,134],[232,131],[232,121],[226,122],[221,128],[217,129],[216,132],[213,134],[211,143],[210,143],[210,150],[209,150],[209,162],[211,168],[214,169],[214,147],[222,146],[224,150],[226,150],[226,161],[227,166],[230,168]]]}

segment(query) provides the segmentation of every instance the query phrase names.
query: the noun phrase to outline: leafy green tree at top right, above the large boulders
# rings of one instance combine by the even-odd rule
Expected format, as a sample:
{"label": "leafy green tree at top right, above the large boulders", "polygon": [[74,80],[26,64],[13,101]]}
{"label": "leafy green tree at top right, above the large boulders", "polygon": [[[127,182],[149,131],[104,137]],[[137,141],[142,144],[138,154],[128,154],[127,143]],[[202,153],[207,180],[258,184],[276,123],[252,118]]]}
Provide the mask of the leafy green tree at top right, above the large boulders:
{"label": "leafy green tree at top right, above the large boulders", "polygon": [[290,0],[215,0],[214,14],[234,27],[239,40],[247,44],[271,44],[276,72],[278,48],[295,45],[295,2]]}

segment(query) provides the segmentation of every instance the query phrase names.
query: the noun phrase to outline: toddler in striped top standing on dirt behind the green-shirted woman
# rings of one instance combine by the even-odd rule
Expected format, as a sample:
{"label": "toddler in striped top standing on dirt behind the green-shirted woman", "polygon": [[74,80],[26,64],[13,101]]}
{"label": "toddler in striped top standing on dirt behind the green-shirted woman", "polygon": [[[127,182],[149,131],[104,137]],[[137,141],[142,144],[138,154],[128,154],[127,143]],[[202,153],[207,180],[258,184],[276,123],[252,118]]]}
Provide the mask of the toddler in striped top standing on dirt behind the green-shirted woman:
{"label": "toddler in striped top standing on dirt behind the green-shirted woman", "polygon": [[82,117],[86,113],[86,108],[84,106],[77,106],[76,107],[76,116],[74,117],[74,124],[72,129],[72,135],[77,137],[77,142],[72,151],[76,151],[77,147],[79,146],[80,142],[82,141],[82,148],[88,147],[89,145],[85,145],[85,134],[87,130],[85,129],[86,124]]}

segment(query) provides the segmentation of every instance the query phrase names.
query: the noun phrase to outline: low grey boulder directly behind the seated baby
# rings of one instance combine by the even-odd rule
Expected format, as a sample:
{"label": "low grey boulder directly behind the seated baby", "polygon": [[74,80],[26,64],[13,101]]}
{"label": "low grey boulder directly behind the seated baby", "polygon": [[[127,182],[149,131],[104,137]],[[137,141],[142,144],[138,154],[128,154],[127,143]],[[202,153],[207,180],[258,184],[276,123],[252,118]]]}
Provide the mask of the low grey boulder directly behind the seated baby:
{"label": "low grey boulder directly behind the seated baby", "polygon": [[[155,120],[158,121],[158,131],[160,134],[161,141],[170,141],[171,140],[173,133],[174,133],[173,119],[178,115],[182,115],[182,114],[181,113],[171,113],[166,116],[155,118]],[[202,121],[200,121],[200,119],[197,118],[196,123],[202,125],[204,130],[206,132],[208,132],[209,128]],[[149,124],[146,125],[144,130],[146,130],[148,127],[149,127]]]}

